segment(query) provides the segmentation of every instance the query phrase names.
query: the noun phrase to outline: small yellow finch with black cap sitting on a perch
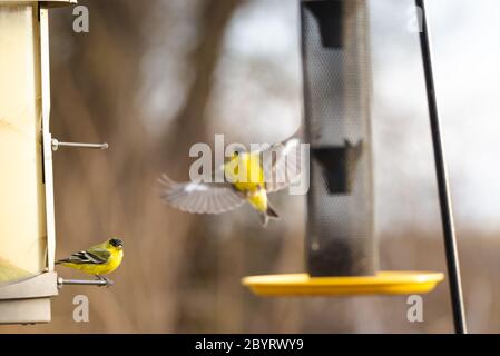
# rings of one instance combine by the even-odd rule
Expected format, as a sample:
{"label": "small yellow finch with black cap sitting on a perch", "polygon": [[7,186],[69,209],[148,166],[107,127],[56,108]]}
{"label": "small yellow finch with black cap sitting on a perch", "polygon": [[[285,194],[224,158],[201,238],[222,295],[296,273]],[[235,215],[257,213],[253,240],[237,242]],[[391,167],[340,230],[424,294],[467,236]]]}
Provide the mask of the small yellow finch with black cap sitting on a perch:
{"label": "small yellow finch with black cap sitting on a perch", "polygon": [[59,259],[56,265],[78,269],[109,283],[110,280],[102,275],[117,269],[122,258],[124,243],[118,238],[111,238],[86,250],[75,253],[68,258]]}

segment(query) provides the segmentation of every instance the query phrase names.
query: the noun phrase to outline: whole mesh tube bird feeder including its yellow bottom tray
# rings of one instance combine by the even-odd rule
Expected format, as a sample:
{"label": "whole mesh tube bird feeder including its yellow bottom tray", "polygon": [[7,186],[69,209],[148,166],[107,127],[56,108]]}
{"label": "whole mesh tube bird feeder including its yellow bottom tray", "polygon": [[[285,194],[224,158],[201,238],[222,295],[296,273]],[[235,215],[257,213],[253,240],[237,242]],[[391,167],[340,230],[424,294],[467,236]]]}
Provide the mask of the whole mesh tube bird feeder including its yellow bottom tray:
{"label": "whole mesh tube bird feeder including its yellow bottom tray", "polygon": [[367,0],[301,2],[311,145],[306,274],[243,279],[255,294],[422,294],[440,273],[380,271],[374,236]]}

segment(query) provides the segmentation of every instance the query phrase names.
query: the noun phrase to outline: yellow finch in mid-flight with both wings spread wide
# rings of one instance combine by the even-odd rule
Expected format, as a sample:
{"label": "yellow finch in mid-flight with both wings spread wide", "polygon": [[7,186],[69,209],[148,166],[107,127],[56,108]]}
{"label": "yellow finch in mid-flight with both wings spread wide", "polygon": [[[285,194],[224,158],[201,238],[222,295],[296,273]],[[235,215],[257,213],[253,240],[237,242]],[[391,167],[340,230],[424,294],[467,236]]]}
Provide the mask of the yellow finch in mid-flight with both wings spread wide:
{"label": "yellow finch in mid-flight with both wings spread wide", "polygon": [[[300,140],[288,139],[269,148],[245,152],[236,150],[219,169],[223,182],[175,182],[166,175],[161,197],[170,206],[193,214],[222,214],[245,201],[258,212],[262,225],[280,216],[271,206],[267,194],[284,189],[300,176]],[[212,177],[215,177],[215,172]]]}

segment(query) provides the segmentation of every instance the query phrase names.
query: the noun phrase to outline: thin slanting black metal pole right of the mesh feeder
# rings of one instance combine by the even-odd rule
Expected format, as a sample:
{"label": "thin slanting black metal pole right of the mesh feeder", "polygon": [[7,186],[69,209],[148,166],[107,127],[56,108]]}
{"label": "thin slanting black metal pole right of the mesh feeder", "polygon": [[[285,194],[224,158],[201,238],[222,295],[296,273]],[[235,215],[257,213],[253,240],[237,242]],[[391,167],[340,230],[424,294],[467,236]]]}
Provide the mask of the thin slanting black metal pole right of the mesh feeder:
{"label": "thin slanting black metal pole right of the mesh feeder", "polygon": [[451,294],[451,304],[453,307],[454,328],[457,334],[467,334],[465,310],[463,307],[462,283],[460,277],[457,237],[453,226],[453,212],[451,207],[447,167],[441,139],[438,101],[435,98],[429,22],[425,11],[425,1],[415,0],[415,3],[418,10],[421,10],[422,17],[420,44],[422,48],[422,60],[425,73],[425,86],[429,101],[429,117],[431,120],[432,142],[434,146],[435,172],[438,177],[439,200],[444,234],[444,248],[447,253],[448,277],[450,279],[450,294]]}

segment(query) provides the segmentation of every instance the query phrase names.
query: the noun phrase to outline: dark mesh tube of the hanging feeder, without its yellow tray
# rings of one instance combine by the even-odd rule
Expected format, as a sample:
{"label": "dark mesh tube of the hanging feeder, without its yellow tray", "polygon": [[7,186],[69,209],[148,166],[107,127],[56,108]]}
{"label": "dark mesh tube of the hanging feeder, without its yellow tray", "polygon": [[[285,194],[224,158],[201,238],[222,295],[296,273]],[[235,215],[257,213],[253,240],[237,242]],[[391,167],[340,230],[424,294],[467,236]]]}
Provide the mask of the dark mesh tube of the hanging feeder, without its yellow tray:
{"label": "dark mesh tube of the hanging feeder, without its yellow tray", "polygon": [[360,4],[314,1],[302,11],[312,276],[376,270],[367,13]]}

